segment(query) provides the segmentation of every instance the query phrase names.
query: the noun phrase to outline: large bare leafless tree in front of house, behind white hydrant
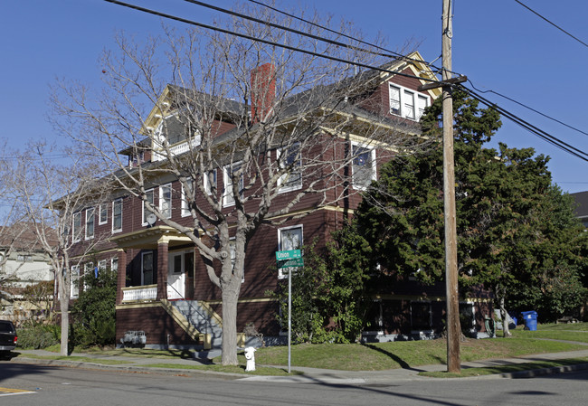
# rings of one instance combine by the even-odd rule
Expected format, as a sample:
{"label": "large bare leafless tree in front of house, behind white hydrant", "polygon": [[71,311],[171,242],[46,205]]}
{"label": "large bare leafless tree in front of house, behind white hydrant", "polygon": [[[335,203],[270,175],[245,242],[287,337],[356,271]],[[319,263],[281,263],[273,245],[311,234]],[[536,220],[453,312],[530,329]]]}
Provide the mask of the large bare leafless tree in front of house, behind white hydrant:
{"label": "large bare leafless tree in front of house, behind white hydrant", "polygon": [[[242,9],[346,41],[318,28],[329,24],[318,16],[309,17],[318,25],[307,25],[266,9]],[[53,106],[62,131],[109,165],[119,188],[194,242],[210,280],[222,291],[223,364],[236,364],[237,301],[246,247],[256,231],[304,215],[296,208],[305,196],[318,196],[311,208],[317,210],[358,194],[352,166],[367,148],[381,148],[385,159],[413,153],[427,140],[414,137],[419,132],[414,124],[385,118],[381,99],[370,97],[385,73],[322,56],[399,69],[406,67],[403,61],[359,51],[353,42],[350,47],[318,42],[241,19],[225,28],[263,42],[168,29],[140,47],[121,35],[119,49],[102,59],[103,91],[92,95],[83,86],[60,83]],[[340,30],[357,34],[346,24]],[[138,157],[136,165],[128,165],[122,150]],[[150,162],[143,163],[147,154]],[[216,175],[226,178],[223,190],[212,182]],[[156,177],[182,184],[190,222],[174,222],[149,202],[146,192]]]}

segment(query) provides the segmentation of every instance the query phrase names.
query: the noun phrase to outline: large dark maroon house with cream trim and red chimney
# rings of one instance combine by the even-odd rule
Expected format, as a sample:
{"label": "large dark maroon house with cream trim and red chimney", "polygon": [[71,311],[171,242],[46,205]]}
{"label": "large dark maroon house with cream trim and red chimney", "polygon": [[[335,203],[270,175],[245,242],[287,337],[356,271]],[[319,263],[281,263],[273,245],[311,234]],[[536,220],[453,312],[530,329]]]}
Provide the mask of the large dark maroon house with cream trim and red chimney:
{"label": "large dark maroon house with cream trim and red chimney", "polygon": [[[379,165],[403,148],[432,142],[420,137],[418,120],[439,90],[418,90],[435,75],[418,52],[411,57],[386,66],[395,73],[364,72],[281,99],[280,106],[271,64],[251,72],[250,104],[167,86],[143,137],[119,150],[128,164],[113,175],[119,183],[111,200],[80,208],[72,224],[80,244],[109,235],[94,257],[99,267],[118,271],[119,344],[219,346],[229,311],[211,280],[226,284],[234,275],[237,331],[252,324],[266,342],[279,343],[278,306],[267,294],[285,277],[275,252],[310,241],[325,247],[377,179]],[[213,114],[194,109],[204,103]],[[264,131],[268,137],[259,142]],[[121,186],[130,179],[140,184]],[[261,210],[268,200],[271,208]],[[91,271],[95,261],[81,260],[72,273]],[[229,270],[224,280],[221,268]],[[373,316],[381,323],[373,335],[439,330],[443,294],[413,285],[375,298]],[[72,296],[81,288],[73,284]],[[469,308],[480,312],[477,303]]]}

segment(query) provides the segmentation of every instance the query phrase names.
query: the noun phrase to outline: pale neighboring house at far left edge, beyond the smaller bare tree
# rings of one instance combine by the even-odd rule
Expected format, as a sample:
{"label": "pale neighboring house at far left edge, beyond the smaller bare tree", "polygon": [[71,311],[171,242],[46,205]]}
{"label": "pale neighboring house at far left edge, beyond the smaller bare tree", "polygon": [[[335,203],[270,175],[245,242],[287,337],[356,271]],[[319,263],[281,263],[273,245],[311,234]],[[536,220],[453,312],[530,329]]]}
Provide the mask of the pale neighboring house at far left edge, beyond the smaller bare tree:
{"label": "pale neighboring house at far left edge, beyond the smaller bare tree", "polygon": [[0,316],[16,326],[51,310],[54,273],[27,223],[0,227]]}

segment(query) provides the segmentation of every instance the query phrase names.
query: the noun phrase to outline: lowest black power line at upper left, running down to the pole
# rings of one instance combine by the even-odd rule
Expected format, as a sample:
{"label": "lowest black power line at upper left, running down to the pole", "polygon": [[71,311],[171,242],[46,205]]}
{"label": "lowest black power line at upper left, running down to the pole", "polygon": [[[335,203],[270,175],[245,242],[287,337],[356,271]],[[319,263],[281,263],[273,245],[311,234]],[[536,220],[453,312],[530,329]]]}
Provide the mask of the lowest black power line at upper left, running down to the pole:
{"label": "lowest black power line at upper left, running down to the pole", "polygon": [[190,24],[190,25],[194,25],[194,26],[197,26],[197,27],[201,27],[201,28],[207,29],[207,30],[212,30],[212,31],[216,31],[216,32],[219,32],[219,33],[226,33],[226,34],[229,34],[229,35],[234,35],[234,36],[237,36],[237,37],[246,39],[246,40],[250,40],[250,41],[253,41],[253,42],[265,43],[265,44],[268,44],[268,45],[271,45],[271,46],[280,47],[280,48],[283,48],[283,49],[286,49],[286,50],[289,50],[289,51],[306,53],[308,55],[316,56],[318,58],[323,58],[323,59],[327,59],[327,60],[330,60],[330,61],[337,61],[337,62],[341,62],[341,63],[355,65],[355,66],[358,66],[360,68],[370,69],[370,70],[374,70],[374,71],[382,71],[382,72],[385,72],[385,73],[394,73],[395,75],[398,75],[398,76],[403,76],[403,77],[406,77],[406,78],[413,78],[413,79],[418,79],[418,80],[425,80],[425,81],[429,81],[429,82],[432,82],[432,83],[436,83],[436,82],[439,81],[439,80],[434,80],[434,79],[422,78],[420,76],[409,75],[408,73],[403,73],[403,72],[398,72],[398,71],[390,71],[390,70],[387,70],[387,69],[384,69],[384,68],[371,66],[371,65],[368,65],[366,63],[361,63],[361,62],[356,62],[356,61],[347,61],[346,59],[343,59],[343,58],[337,58],[335,56],[326,55],[324,53],[318,53],[318,52],[304,50],[304,49],[301,49],[301,48],[297,48],[295,46],[286,45],[284,43],[278,43],[278,42],[272,42],[272,41],[264,40],[264,39],[261,39],[261,38],[253,37],[253,36],[248,35],[248,34],[244,34],[244,33],[236,33],[236,32],[231,31],[231,30],[226,30],[224,28],[215,27],[215,26],[209,25],[209,24],[198,23],[198,22],[195,22],[193,20],[188,20],[186,18],[177,17],[177,16],[172,15],[172,14],[161,13],[161,12],[158,12],[158,11],[155,11],[155,10],[151,10],[151,9],[148,9],[148,8],[145,8],[145,7],[140,7],[138,5],[130,5],[128,3],[120,2],[119,0],[104,0],[104,1],[107,2],[107,3],[112,3],[114,5],[122,5],[123,7],[128,7],[128,8],[131,8],[133,10],[140,11],[142,13],[157,15],[159,17],[167,18],[169,20],[174,20],[174,21],[177,21],[179,23]]}

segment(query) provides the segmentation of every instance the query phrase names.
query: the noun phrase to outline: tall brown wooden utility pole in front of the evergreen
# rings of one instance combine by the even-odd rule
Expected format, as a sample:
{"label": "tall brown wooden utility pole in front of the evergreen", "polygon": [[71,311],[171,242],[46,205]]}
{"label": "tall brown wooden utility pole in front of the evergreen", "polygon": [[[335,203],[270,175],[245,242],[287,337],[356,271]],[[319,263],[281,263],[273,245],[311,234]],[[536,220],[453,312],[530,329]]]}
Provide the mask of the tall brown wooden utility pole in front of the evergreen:
{"label": "tall brown wooden utility pole in front of the evergreen", "polygon": [[[450,80],[451,36],[453,30],[450,0],[443,0],[441,80]],[[453,99],[451,87],[442,86],[443,100],[443,206],[445,216],[445,284],[447,290],[447,372],[460,373],[460,303],[458,294],[458,250],[455,220],[455,171],[453,158]]]}

